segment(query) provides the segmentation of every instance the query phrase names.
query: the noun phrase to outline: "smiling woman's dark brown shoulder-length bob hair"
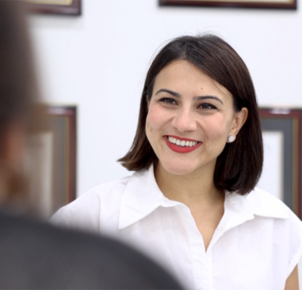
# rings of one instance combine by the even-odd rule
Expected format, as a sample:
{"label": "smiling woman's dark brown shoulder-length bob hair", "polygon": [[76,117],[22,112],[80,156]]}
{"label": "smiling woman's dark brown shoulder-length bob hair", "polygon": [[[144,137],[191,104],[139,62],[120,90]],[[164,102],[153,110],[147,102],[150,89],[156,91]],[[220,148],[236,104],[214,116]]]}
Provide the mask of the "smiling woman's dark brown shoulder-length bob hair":
{"label": "smiling woman's dark brown shoulder-length bob hair", "polygon": [[128,170],[156,166],[155,155],[145,132],[148,100],[156,76],[168,64],[187,60],[207,76],[223,85],[233,96],[234,110],[246,107],[248,117],[235,142],[226,143],[218,156],[214,182],[218,189],[247,194],[256,186],[263,164],[261,122],[256,93],[248,69],[238,53],[224,40],[212,34],[183,36],[165,45],[153,60],[140,100],[136,135],[129,152],[118,161]]}

